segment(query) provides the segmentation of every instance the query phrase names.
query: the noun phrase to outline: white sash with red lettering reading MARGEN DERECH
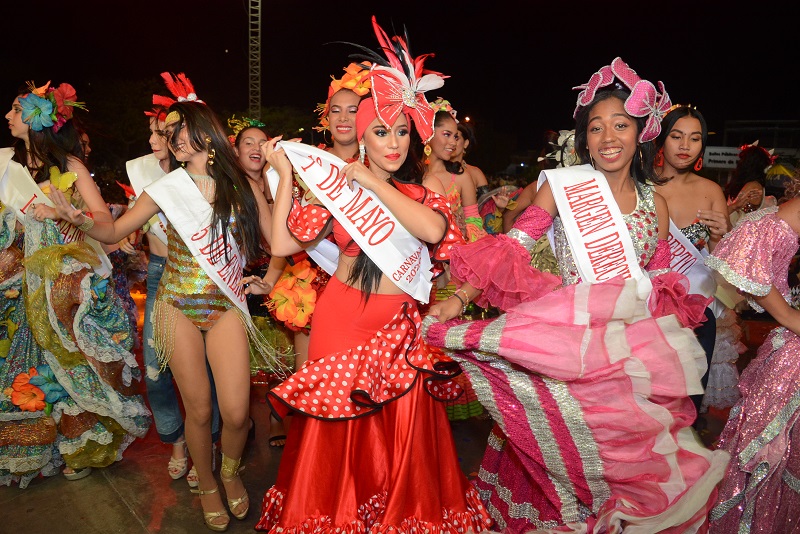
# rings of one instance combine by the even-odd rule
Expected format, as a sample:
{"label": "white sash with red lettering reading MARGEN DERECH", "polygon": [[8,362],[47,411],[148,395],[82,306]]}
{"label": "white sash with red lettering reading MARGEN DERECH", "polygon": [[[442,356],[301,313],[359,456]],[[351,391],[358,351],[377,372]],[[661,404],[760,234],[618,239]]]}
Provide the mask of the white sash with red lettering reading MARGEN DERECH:
{"label": "white sash with red lettering reading MARGEN DERECH", "polygon": [[564,232],[584,282],[597,283],[622,276],[637,282],[647,298],[650,278],[639,266],[633,241],[602,173],[591,165],[548,169],[539,174],[553,192]]}

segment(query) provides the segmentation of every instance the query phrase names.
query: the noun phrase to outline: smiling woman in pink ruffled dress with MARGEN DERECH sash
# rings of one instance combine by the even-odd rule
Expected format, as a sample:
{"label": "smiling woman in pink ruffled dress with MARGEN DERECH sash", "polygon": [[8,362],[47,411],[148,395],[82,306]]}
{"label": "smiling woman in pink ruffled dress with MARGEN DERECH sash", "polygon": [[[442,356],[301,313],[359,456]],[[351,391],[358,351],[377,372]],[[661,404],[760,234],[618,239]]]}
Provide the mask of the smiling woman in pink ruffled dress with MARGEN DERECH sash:
{"label": "smiling woman in pink ruffled dress with MARGEN DERECH sash", "polygon": [[[510,232],[455,247],[463,283],[424,334],[496,422],[475,485],[498,530],[704,532],[727,464],[690,428],[707,299],[669,271],[668,209],[646,186],[669,97],[620,58],[579,89],[587,164],[543,171]],[[530,267],[550,227],[561,280]],[[436,322],[473,299],[506,313]]]}

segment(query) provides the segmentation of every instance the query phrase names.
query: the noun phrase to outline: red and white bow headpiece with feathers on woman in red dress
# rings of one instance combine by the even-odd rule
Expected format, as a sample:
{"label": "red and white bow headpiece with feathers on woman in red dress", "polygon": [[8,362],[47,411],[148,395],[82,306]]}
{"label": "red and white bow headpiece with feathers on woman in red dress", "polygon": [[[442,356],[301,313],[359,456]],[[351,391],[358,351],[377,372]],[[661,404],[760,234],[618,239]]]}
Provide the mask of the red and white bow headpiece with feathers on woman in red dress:
{"label": "red and white bow headpiece with feathers on woman in red dress", "polygon": [[413,58],[407,37],[403,39],[395,35],[389,38],[374,16],[372,26],[388,60],[388,63],[386,60],[381,61],[383,64],[374,63],[370,69],[375,113],[387,127],[394,124],[400,113],[410,115],[422,142],[427,143],[433,137],[433,116],[436,113],[425,99],[425,91],[442,87],[447,76],[423,68],[425,60],[433,54]]}

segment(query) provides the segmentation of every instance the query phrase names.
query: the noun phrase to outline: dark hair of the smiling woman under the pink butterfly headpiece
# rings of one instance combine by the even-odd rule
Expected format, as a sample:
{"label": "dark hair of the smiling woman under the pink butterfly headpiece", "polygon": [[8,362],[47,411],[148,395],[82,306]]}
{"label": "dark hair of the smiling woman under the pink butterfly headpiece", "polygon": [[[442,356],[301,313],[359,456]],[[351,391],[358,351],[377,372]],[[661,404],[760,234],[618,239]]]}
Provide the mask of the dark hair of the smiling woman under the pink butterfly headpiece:
{"label": "dark hair of the smiling woman under the pink butterfly headpiece", "polygon": [[[589,157],[589,144],[588,127],[589,117],[594,107],[598,102],[602,102],[608,98],[617,98],[621,102],[625,102],[630,96],[630,91],[621,87],[600,90],[594,97],[594,100],[588,105],[580,108],[578,114],[575,116],[575,151],[581,163],[590,163]],[[644,129],[647,122],[647,117],[631,117],[636,123],[637,137],[638,134]],[[639,143],[639,150],[633,156],[631,162],[631,178],[637,183],[648,184],[649,182],[660,184],[665,180],[660,178],[653,168],[653,160],[655,159],[656,149],[653,141],[646,143]]]}

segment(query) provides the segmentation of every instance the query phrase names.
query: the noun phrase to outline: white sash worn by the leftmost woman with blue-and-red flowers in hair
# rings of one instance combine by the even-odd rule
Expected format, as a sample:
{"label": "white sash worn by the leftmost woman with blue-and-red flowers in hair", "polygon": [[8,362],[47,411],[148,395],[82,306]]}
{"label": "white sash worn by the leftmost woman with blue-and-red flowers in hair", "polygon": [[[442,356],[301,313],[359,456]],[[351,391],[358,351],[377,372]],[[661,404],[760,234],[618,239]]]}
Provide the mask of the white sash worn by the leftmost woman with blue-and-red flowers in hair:
{"label": "white sash worn by the leftmost woman with blue-and-red flowers in hair", "polygon": [[[46,204],[53,207],[53,203],[33,180],[28,169],[11,159],[13,155],[13,148],[0,149],[0,202],[11,206],[16,212],[17,220],[21,224],[25,224],[25,215],[34,204]],[[64,243],[85,241],[97,252],[100,265],[94,267],[95,273],[103,278],[111,274],[111,260],[108,259],[102,245],[97,240],[87,236],[77,226],[73,226],[67,221],[56,221],[56,226]]]}

